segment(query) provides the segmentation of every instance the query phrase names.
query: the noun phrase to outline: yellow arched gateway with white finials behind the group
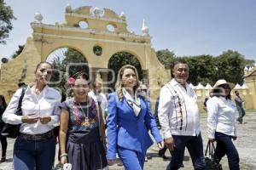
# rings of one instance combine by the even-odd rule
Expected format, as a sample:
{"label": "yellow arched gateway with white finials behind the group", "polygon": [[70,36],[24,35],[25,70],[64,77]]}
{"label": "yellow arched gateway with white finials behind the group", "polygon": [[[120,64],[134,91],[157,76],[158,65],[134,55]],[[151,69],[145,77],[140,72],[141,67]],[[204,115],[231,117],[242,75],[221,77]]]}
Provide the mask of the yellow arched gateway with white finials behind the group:
{"label": "yellow arched gateway with white finials behind the group", "polygon": [[1,67],[0,94],[8,100],[19,81],[33,81],[38,62],[62,47],[76,49],[86,56],[92,77],[100,70],[104,83],[108,81],[106,69],[113,54],[121,51],[134,55],[140,62],[152,99],[159,93],[160,84],[170,80],[170,71],[160,64],[151,48],[151,37],[144,22],[143,35],[137,35],[127,30],[125,14],[89,6],[76,9],[67,6],[63,24],[44,24],[41,14],[35,14],[35,20],[31,23],[32,37],[27,38],[22,53]]}

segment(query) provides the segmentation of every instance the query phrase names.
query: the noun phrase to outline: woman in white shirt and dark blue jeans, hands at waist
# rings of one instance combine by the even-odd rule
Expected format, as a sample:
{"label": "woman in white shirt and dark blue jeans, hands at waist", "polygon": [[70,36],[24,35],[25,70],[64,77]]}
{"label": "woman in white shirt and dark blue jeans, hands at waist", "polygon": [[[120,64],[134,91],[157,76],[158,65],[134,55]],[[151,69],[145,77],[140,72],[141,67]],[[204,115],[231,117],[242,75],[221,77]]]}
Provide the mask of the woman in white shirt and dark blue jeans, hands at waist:
{"label": "woman in white shirt and dark blue jeans, hands at waist", "polygon": [[59,122],[61,94],[47,83],[52,75],[48,62],[40,62],[35,82],[30,83],[22,99],[22,116],[15,115],[22,90],[19,88],[3,113],[3,122],[20,124],[14,146],[15,170],[50,170],[55,161],[53,128]]}

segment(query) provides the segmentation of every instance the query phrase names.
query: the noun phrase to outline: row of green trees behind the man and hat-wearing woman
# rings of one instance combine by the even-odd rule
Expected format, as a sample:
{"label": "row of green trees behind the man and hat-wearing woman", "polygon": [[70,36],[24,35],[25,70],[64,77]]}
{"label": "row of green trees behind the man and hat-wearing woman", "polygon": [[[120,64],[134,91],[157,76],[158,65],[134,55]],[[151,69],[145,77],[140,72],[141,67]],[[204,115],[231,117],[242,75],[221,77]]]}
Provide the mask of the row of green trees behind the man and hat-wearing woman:
{"label": "row of green trees behind the man and hat-wearing woman", "polygon": [[188,82],[194,85],[199,82],[203,85],[207,83],[213,85],[221,78],[241,84],[243,82],[244,66],[254,65],[254,60],[244,59],[241,54],[232,50],[228,50],[218,57],[207,54],[179,57],[175,56],[169,49],[159,50],[156,54],[160,62],[171,71],[177,60],[187,62],[189,65]]}

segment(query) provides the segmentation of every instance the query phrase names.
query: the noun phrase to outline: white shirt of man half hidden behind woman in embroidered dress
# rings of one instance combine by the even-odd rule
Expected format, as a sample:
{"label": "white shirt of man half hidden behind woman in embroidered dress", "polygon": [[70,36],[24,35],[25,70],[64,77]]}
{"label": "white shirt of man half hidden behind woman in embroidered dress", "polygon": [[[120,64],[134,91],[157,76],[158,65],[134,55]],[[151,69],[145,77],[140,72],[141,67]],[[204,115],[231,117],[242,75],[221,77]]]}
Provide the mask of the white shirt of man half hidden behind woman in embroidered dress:
{"label": "white shirt of man half hidden behind woman in embroidered dress", "polygon": [[103,116],[103,122],[104,124],[106,124],[106,119],[105,119],[105,110],[107,109],[108,107],[108,100],[105,96],[105,94],[95,94],[93,90],[91,90],[88,95],[94,99],[96,101],[96,103],[98,104],[98,101],[100,101],[101,105],[101,111],[102,111],[102,116]]}

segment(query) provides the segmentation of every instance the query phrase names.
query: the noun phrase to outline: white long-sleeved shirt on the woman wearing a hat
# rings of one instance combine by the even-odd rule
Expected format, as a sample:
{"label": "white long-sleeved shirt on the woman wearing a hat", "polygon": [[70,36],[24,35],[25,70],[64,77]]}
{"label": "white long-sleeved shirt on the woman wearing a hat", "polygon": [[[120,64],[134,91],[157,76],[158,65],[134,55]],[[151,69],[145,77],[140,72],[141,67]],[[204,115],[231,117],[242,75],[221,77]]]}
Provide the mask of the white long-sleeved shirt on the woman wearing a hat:
{"label": "white long-sleeved shirt on the woman wearing a hat", "polygon": [[208,99],[207,113],[208,138],[215,139],[215,132],[236,136],[236,105],[230,99]]}

